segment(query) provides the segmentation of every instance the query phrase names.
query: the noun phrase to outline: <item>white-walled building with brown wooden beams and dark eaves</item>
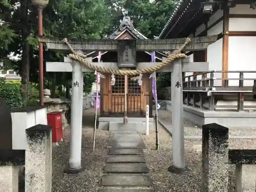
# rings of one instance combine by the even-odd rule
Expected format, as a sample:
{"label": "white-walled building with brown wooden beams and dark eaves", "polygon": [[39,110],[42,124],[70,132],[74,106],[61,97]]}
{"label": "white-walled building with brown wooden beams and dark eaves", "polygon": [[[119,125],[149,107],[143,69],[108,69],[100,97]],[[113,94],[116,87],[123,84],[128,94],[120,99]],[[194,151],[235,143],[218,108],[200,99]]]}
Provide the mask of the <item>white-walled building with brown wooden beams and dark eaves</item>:
{"label": "white-walled building with brown wooden beams and dark eaves", "polygon": [[[219,35],[219,39],[205,51],[188,53],[189,61],[207,61],[209,70],[256,71],[256,9],[250,8],[253,1],[215,1],[211,14],[203,12],[203,0],[181,0],[177,4],[160,38]],[[189,73],[185,74],[186,76]],[[219,73],[215,77],[239,78],[239,73]],[[255,73],[245,73],[244,78],[256,78]],[[229,80],[229,86],[238,86],[238,80]],[[253,81],[244,81],[252,86]],[[222,81],[215,81],[221,86]]]}

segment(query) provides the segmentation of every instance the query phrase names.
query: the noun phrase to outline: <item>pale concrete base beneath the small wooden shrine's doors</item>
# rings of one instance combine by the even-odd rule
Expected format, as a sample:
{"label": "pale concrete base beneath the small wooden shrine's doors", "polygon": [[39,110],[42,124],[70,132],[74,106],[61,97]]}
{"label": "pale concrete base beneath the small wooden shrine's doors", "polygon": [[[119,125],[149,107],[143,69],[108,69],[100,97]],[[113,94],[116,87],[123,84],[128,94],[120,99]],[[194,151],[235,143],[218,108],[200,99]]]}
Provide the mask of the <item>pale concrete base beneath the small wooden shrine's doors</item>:
{"label": "pale concrete base beneath the small wooden shrine's doors", "polygon": [[[123,117],[99,117],[99,130],[108,131],[139,131],[145,132],[146,119],[141,117],[128,117],[128,123],[123,123]],[[154,118],[150,118],[150,130],[154,129]]]}

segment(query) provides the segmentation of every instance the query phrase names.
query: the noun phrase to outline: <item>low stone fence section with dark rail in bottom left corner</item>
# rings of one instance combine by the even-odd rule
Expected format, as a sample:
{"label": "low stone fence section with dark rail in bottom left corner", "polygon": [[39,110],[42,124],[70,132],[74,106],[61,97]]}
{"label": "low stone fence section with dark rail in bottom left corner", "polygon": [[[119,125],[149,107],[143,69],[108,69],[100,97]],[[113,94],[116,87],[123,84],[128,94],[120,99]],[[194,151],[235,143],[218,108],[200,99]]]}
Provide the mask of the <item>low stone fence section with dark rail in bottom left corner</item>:
{"label": "low stone fence section with dark rail in bottom left corner", "polygon": [[0,192],[18,192],[18,173],[25,150],[0,150]]}

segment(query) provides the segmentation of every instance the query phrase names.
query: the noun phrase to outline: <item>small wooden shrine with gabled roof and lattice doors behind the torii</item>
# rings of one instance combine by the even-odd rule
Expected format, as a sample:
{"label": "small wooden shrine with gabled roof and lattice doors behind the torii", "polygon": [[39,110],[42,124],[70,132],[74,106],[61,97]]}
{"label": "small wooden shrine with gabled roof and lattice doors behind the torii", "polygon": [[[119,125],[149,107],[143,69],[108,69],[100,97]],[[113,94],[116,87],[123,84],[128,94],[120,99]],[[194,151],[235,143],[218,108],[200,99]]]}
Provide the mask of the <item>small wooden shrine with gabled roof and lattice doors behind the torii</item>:
{"label": "small wooden shrine with gabled roof and lattice doors behind the torii", "polygon": [[[129,39],[148,39],[133,26],[133,20],[127,15],[120,20],[120,26],[107,39],[118,39],[129,41]],[[132,44],[131,44],[132,46]],[[151,62],[151,52],[136,51],[132,53],[127,46],[126,50],[105,51],[101,53],[101,62],[118,63],[119,69],[134,70],[139,62]],[[118,54],[122,51],[125,55],[118,60]],[[93,51],[86,54],[87,57],[92,57],[93,62],[98,61],[98,51]],[[156,52],[156,62],[161,62],[163,57],[167,55],[163,52]],[[124,76],[115,76],[115,84],[111,86],[111,75],[109,73],[103,74],[105,78],[100,78],[100,115],[99,115],[99,129],[113,130],[109,126],[123,125],[124,117]],[[152,79],[149,79],[150,73],[145,73],[142,76],[142,86],[139,86],[137,81],[132,80],[134,76],[127,76],[127,117],[129,124],[126,126],[145,127],[145,113],[146,105],[150,107],[150,126],[153,126],[153,94],[152,94]],[[113,117],[115,117],[113,120]],[[139,124],[138,124],[139,123]],[[143,127],[142,127],[143,126]],[[115,128],[114,128],[115,129]]]}

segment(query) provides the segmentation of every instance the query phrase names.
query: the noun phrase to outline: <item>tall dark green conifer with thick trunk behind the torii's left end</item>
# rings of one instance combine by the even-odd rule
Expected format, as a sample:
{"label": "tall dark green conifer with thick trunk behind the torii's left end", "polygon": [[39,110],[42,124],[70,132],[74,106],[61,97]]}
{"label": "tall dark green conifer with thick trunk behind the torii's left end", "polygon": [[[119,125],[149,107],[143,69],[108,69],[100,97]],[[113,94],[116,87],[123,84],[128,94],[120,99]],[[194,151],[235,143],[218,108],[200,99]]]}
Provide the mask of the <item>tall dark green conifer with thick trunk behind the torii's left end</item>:
{"label": "tall dark green conifer with thick trunk behind the torii's left end", "polygon": [[[44,35],[49,38],[101,38],[109,28],[111,16],[108,4],[101,0],[50,1],[43,11]],[[2,0],[0,3],[0,61],[22,76],[24,104],[28,99],[29,81],[38,82],[37,10],[29,0]],[[18,55],[11,61],[10,53]],[[44,61],[63,61],[63,54],[44,50]],[[31,63],[31,65],[30,65]],[[86,74],[87,81],[94,76]],[[55,78],[56,77],[56,78]],[[46,87],[65,84],[71,74],[45,72]],[[55,84],[54,83],[54,84]],[[87,83],[86,83],[87,84]],[[55,86],[55,85],[54,85]]]}

